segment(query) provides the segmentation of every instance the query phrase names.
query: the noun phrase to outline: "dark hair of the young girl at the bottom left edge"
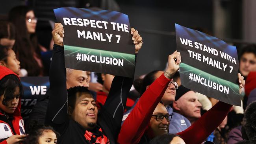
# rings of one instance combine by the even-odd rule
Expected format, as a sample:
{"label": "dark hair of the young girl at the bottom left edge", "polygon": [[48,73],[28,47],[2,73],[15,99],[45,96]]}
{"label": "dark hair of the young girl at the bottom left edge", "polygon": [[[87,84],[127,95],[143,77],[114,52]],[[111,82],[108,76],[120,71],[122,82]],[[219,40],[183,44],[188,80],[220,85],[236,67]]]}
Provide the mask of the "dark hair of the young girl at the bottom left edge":
{"label": "dark hair of the young girl at the bottom left edge", "polygon": [[59,133],[55,131],[51,126],[44,126],[39,124],[37,121],[32,120],[28,124],[28,135],[26,136],[24,144],[39,144],[39,137],[41,137],[43,132],[47,130],[53,131],[56,134],[56,137],[59,137]]}

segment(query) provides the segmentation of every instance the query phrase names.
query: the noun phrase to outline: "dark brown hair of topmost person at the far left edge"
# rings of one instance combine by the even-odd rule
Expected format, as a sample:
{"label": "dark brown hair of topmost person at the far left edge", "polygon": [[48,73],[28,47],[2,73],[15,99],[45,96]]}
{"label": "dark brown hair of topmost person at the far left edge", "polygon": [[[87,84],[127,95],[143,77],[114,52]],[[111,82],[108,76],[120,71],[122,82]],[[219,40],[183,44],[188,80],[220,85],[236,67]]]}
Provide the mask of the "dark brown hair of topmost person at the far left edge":
{"label": "dark brown hair of topmost person at the far left edge", "polygon": [[15,39],[15,27],[11,22],[0,21],[0,39]]}

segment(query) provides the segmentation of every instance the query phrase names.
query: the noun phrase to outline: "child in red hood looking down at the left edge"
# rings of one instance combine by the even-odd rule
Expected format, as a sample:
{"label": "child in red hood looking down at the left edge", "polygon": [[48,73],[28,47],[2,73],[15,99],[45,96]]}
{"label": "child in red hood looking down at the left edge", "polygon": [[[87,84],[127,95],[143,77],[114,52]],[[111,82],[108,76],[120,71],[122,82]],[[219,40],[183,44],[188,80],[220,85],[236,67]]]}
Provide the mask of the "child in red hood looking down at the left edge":
{"label": "child in red hood looking down at the left edge", "polygon": [[18,144],[26,137],[20,115],[22,95],[19,76],[0,66],[0,144]]}

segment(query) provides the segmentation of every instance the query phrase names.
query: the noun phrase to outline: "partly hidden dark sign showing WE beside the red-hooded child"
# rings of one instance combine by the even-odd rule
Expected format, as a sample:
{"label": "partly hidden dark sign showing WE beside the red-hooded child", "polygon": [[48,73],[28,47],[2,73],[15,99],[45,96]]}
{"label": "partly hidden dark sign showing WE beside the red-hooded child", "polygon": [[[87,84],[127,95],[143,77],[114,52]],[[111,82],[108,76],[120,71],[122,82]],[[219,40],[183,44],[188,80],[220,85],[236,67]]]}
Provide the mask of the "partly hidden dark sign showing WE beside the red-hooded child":
{"label": "partly hidden dark sign showing WE beside the red-hooded child", "polygon": [[21,98],[21,116],[29,116],[37,100],[44,97],[46,91],[50,88],[49,77],[20,77],[24,90]]}

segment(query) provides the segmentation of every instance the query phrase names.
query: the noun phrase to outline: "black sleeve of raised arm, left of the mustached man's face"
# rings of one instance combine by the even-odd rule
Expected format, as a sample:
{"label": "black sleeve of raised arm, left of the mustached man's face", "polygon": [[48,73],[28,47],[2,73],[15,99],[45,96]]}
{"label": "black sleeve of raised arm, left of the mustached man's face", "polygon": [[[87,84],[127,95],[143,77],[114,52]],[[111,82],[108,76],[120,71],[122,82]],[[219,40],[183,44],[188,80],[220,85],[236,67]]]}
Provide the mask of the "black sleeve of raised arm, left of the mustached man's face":
{"label": "black sleeve of raised arm, left of the mustached man's face", "polygon": [[56,131],[62,133],[69,120],[63,46],[54,44],[49,75],[50,98],[46,111],[45,125],[50,125]]}

